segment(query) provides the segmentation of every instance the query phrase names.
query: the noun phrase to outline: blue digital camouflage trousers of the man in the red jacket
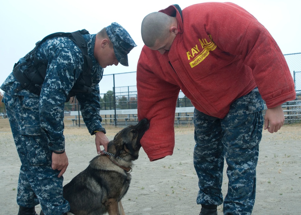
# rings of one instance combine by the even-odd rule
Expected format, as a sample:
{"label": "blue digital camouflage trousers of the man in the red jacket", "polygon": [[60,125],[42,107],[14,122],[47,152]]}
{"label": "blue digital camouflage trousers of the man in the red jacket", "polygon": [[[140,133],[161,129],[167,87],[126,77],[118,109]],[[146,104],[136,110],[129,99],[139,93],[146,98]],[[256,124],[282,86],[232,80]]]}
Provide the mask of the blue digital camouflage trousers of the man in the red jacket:
{"label": "blue digital camouflage trousers of the man in the red jacket", "polygon": [[228,192],[224,214],[251,214],[255,202],[256,165],[263,127],[263,100],[255,88],[235,100],[225,118],[194,111],[194,167],[199,178],[197,204],[223,203],[224,159]]}

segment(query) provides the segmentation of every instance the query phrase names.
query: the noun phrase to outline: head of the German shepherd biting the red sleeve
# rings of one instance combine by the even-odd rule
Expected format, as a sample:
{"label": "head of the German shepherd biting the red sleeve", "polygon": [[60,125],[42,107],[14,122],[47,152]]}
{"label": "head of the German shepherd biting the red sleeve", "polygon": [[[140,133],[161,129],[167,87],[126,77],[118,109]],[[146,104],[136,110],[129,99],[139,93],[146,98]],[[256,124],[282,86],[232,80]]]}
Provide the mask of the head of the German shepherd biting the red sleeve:
{"label": "head of the German shepherd biting the red sleeve", "polygon": [[138,159],[140,140],[149,128],[149,120],[143,119],[136,125],[130,125],[119,131],[108,144],[108,152],[125,160]]}

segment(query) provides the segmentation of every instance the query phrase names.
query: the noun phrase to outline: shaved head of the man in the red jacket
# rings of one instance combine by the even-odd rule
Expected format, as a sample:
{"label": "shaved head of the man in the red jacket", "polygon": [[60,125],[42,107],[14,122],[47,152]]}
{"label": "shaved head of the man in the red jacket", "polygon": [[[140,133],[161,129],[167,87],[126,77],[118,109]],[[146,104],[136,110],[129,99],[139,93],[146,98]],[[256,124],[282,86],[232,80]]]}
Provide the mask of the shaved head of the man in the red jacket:
{"label": "shaved head of the man in the red jacket", "polygon": [[144,44],[148,47],[154,46],[156,40],[163,40],[169,35],[169,28],[176,21],[162,12],[154,12],[144,17],[141,24],[141,36]]}

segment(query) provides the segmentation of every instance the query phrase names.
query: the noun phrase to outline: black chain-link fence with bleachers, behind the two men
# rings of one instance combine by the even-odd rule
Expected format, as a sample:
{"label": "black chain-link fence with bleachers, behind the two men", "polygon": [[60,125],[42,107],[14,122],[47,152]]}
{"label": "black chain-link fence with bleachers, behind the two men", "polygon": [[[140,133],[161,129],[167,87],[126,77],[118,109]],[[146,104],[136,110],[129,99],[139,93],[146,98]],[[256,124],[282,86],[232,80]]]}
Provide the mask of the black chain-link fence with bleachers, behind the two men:
{"label": "black chain-link fence with bleachers, behind the two men", "polygon": [[[284,55],[290,68],[297,93],[296,100],[282,105],[286,123],[301,123],[301,53]],[[136,72],[104,75],[100,82],[101,117],[104,125],[127,126],[136,124]],[[66,104],[65,125],[84,125],[76,99]],[[266,107],[265,107],[266,109]],[[175,112],[175,125],[193,124],[194,107],[181,91]]]}

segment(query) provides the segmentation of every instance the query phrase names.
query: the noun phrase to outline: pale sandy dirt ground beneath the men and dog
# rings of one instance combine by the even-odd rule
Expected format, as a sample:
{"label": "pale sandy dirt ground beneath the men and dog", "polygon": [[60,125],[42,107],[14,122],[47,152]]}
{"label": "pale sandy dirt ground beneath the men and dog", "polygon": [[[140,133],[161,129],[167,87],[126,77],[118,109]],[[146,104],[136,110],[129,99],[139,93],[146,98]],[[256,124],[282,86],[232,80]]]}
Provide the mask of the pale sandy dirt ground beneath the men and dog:
{"label": "pale sandy dirt ground beneath the men and dog", "polygon": [[[120,128],[107,127],[111,140]],[[129,191],[123,198],[126,214],[199,214],[198,179],[193,166],[193,126],[175,128],[172,156],[150,162],[141,148],[135,161]],[[84,170],[97,155],[94,136],[86,128],[64,132],[69,166],[64,184]],[[301,214],[301,125],[285,125],[277,133],[263,131],[257,166],[257,192],[252,214]],[[20,160],[7,119],[0,119],[0,214],[15,215]],[[225,174],[222,192],[226,195]],[[39,213],[39,205],[36,211]],[[222,215],[222,206],[218,215]]]}

